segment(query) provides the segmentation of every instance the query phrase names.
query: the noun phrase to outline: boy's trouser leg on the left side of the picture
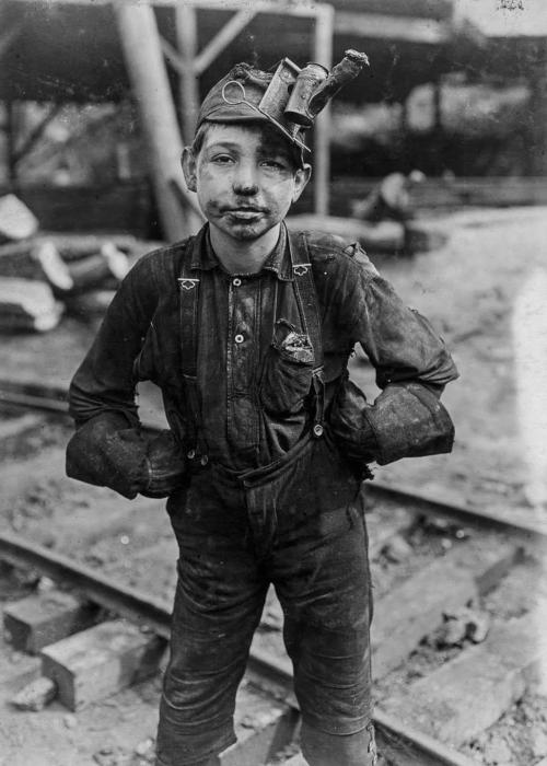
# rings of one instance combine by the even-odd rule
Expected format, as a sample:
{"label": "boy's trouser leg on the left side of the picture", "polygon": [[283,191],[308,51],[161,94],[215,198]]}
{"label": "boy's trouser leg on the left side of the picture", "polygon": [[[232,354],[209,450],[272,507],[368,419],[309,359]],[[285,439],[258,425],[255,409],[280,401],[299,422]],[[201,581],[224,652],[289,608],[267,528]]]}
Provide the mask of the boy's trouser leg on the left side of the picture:
{"label": "boy's trouser leg on the left side of the picture", "polygon": [[267,590],[240,494],[207,477],[170,500],[181,558],[158,766],[212,766],[235,742],[235,694]]}

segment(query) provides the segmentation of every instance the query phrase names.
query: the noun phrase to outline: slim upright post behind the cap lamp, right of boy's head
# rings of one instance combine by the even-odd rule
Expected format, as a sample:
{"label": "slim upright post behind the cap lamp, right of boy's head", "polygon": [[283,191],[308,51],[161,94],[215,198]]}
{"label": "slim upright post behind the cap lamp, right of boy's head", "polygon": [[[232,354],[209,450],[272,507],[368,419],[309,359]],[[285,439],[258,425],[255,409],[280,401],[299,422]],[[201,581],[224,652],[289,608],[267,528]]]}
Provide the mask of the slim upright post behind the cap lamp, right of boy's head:
{"label": "slim upright post behind the cap lamp, right of boy's head", "polygon": [[[314,30],[313,60],[327,69],[333,66],[334,8],[322,7],[317,11]],[[330,107],[327,105],[315,120],[314,127],[314,197],[315,213],[328,214],[330,183]]]}

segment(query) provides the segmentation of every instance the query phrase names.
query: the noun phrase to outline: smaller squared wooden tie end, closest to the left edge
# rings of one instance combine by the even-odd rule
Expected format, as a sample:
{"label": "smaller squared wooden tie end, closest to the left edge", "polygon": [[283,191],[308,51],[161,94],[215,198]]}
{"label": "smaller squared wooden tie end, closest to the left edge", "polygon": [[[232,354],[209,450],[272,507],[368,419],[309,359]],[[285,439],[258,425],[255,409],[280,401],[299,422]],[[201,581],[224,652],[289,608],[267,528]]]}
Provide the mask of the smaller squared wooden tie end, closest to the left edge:
{"label": "smaller squared wooden tie end, closest to the left edge", "polygon": [[14,649],[37,654],[48,643],[93,625],[97,612],[69,593],[48,591],[8,604],[3,626]]}

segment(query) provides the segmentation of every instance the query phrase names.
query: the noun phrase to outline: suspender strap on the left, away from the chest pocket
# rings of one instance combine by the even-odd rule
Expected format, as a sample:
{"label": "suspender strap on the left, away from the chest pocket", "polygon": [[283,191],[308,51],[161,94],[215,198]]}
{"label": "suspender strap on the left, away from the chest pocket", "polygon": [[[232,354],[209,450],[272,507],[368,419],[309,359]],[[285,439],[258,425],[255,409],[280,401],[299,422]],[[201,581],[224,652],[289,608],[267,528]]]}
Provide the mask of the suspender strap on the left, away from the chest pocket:
{"label": "suspender strap on the left, away from the chest pocket", "polygon": [[181,305],[181,371],[186,398],[188,459],[206,465],[207,445],[201,428],[201,402],[197,386],[198,333],[199,333],[199,279],[190,270],[191,247],[183,257],[182,275],[178,277]]}

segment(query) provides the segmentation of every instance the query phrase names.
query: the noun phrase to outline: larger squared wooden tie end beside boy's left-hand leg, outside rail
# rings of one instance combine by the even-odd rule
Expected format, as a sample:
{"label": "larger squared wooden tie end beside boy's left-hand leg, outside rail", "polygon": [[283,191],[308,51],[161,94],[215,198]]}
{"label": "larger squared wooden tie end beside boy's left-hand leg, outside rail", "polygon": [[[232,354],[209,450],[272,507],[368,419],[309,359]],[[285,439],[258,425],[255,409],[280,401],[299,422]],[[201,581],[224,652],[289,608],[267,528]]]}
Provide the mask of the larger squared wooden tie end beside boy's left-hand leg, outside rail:
{"label": "larger squared wooden tie end beside boy's left-hand leg, outside rail", "polygon": [[109,620],[43,649],[42,672],[60,701],[80,710],[154,673],[165,646],[127,620]]}

